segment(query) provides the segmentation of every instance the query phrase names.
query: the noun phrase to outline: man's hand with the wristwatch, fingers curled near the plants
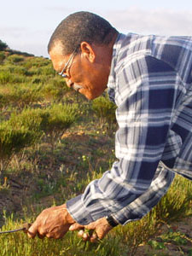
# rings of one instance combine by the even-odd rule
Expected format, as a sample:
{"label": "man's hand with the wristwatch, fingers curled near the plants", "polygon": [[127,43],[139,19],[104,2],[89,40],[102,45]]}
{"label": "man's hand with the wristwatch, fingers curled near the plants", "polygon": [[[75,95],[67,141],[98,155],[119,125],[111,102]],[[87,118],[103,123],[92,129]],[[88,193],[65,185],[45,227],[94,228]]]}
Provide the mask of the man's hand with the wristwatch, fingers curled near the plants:
{"label": "man's hand with the wristwatch, fingers curled near the plants", "polygon": [[[94,230],[94,232],[92,233],[92,235],[90,235],[84,229]],[[78,236],[82,237],[84,241],[91,241],[91,242],[96,242],[97,238],[102,239],[112,229],[113,227],[110,224],[108,224],[108,221],[106,218],[99,218],[95,222],[92,222],[85,226],[75,223],[71,225],[71,227],[69,228],[69,230],[71,231],[80,230],[78,233]]]}

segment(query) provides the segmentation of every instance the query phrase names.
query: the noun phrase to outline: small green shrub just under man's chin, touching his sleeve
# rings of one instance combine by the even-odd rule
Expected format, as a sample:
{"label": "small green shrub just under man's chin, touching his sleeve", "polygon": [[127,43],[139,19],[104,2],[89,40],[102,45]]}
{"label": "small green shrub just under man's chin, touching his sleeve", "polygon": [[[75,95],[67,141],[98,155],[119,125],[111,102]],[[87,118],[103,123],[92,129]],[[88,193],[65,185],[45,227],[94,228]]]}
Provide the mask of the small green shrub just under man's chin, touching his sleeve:
{"label": "small green shrub just under man's chin, touching his sleeve", "polygon": [[109,128],[115,122],[115,109],[117,107],[110,102],[108,97],[100,96],[92,102],[92,109],[100,119],[100,124],[108,123]]}

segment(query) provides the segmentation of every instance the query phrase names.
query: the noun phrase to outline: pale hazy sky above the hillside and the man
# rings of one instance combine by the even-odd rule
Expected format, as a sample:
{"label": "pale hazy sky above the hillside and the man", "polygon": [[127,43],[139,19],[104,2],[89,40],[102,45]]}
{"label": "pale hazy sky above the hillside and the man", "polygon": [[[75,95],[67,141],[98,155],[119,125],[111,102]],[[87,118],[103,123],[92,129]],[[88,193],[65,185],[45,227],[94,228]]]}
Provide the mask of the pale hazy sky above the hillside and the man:
{"label": "pale hazy sky above the hillside and the man", "polygon": [[7,0],[0,7],[0,39],[37,56],[49,57],[55,27],[82,10],[101,15],[119,32],[192,36],[191,0]]}

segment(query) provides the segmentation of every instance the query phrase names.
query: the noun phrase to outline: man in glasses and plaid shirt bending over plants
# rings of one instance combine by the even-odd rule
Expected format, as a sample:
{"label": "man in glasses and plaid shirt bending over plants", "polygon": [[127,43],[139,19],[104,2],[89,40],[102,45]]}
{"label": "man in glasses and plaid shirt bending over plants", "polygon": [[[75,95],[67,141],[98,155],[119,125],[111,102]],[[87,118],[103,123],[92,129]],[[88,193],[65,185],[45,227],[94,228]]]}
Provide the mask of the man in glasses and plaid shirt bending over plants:
{"label": "man in glasses and plaid shirt bending over plants", "polygon": [[40,213],[28,232],[60,238],[142,218],[166,194],[175,173],[192,178],[192,38],[121,34],[89,12],[69,15],[49,41],[53,66],[88,99],[108,88],[116,103],[119,159],[99,180],[59,207]]}

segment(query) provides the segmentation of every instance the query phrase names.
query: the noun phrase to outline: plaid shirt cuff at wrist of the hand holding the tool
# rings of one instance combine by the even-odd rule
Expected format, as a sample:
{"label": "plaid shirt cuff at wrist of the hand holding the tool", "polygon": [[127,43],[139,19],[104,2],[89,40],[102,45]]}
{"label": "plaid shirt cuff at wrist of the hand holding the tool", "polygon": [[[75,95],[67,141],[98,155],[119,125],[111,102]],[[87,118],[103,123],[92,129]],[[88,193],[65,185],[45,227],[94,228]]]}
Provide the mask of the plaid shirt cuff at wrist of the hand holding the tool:
{"label": "plaid shirt cuff at wrist of the hand holding the tool", "polygon": [[67,211],[77,223],[86,225],[95,220],[91,217],[90,212],[87,211],[86,207],[84,207],[81,196],[82,195],[78,195],[67,201]]}

